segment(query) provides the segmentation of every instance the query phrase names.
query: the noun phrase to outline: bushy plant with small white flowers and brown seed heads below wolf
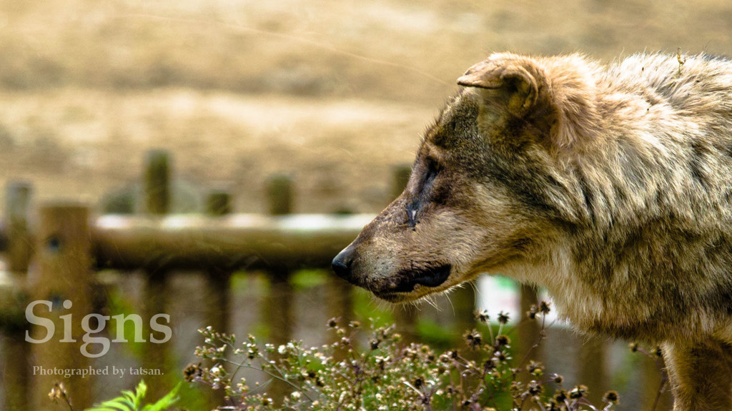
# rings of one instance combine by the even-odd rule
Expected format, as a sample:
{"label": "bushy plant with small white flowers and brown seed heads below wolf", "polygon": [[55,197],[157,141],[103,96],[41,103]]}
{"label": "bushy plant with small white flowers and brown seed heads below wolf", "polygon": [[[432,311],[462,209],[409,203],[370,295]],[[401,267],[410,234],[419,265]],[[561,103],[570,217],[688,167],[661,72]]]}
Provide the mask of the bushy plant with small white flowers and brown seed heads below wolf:
{"label": "bushy plant with small white flowers and brown seed heads below wolf", "polygon": [[[548,312],[542,303],[529,319],[540,320],[543,331]],[[489,323],[485,312],[477,318]],[[237,344],[235,336],[206,328],[200,330],[205,344],[195,352],[202,361],[188,366],[184,378],[223,391],[220,410],[606,411],[617,403],[618,394],[610,391],[602,407],[594,407],[584,385],[564,389],[561,376],[548,374],[542,364],[512,361],[504,333],[508,320],[501,313],[498,332],[489,327],[488,338],[476,330],[466,333],[466,353],[405,344],[393,325],[378,327],[373,321],[364,332],[358,322],[341,326],[330,320],[337,341],[321,347],[294,341],[261,345],[251,335]],[[238,375],[242,369],[260,370],[270,381],[250,385]],[[288,387],[282,399],[266,393],[272,380]]]}

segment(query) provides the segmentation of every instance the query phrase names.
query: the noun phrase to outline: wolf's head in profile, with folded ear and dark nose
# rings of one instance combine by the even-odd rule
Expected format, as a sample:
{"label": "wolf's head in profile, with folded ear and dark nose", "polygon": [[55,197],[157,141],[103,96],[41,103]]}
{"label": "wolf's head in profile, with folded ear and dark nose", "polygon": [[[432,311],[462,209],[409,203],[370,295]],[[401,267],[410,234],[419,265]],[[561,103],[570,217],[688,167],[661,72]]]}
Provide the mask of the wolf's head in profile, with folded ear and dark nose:
{"label": "wolf's head in profile, with folded ear and dark nose", "polygon": [[591,67],[501,53],[468,69],[406,189],[335,257],[335,273],[403,302],[550,258],[556,227],[582,217],[558,170],[599,123]]}

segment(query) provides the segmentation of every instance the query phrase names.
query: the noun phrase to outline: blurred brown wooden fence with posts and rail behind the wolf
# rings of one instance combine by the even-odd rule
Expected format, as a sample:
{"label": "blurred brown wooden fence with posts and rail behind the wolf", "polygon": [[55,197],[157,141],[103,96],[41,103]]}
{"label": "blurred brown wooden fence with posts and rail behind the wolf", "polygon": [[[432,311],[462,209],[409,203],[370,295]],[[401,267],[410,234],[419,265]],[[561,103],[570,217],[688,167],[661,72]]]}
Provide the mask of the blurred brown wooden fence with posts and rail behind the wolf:
{"label": "blurred brown wooden fence with posts and rail behind the wolf", "polygon": [[[408,168],[396,170],[394,192],[403,188]],[[31,366],[48,369],[83,369],[92,360],[80,355],[81,317],[94,312],[94,275],[100,269],[143,270],[143,324],[154,314],[168,312],[169,274],[172,270],[203,271],[209,298],[206,323],[216,330],[231,331],[231,274],[237,270],[264,270],[269,278],[269,296],[264,298],[270,340],[287,342],[293,335],[294,295],[291,275],[299,268],[329,269],[332,257],[352,241],[372,215],[290,214],[293,196],[288,178],[269,181],[269,214],[231,214],[231,194],[214,190],[206,197],[206,214],[171,215],[171,162],[165,151],[146,154],[143,170],[143,213],[94,217],[91,208],[73,203],[45,203],[37,208],[37,225],[29,226],[31,186],[15,183],[7,187],[6,213],[0,229],[10,283],[0,285],[0,325],[4,331],[2,385],[5,410],[49,408],[48,390],[58,376],[33,375]],[[351,318],[353,301],[349,284],[332,276],[327,306],[333,317]],[[522,309],[536,299],[530,287],[522,288]],[[463,319],[460,329],[474,325],[474,293],[470,287],[452,298],[455,317]],[[24,341],[23,310],[29,301],[53,301],[49,319],[62,329],[64,317],[72,314],[75,343],[51,339],[45,344]],[[70,300],[68,309],[56,304]],[[407,338],[414,338],[414,316],[397,310],[397,321]],[[65,315],[62,315],[65,314]],[[31,330],[40,339],[41,331]],[[146,330],[148,333],[149,330]],[[529,328],[520,340],[534,341],[537,331]],[[57,332],[58,334],[58,332]],[[526,344],[522,350],[528,350]],[[602,358],[602,347],[591,347],[591,355]],[[166,344],[144,344],[143,364],[163,364],[171,358]],[[586,353],[587,355],[587,353]],[[589,367],[588,367],[589,368]],[[581,372],[581,370],[580,370]],[[150,396],[167,390],[165,380],[150,380]],[[585,383],[604,380],[605,372],[595,364]],[[75,409],[92,404],[91,382],[78,377],[64,379],[75,401]],[[590,381],[589,381],[590,380]],[[589,381],[589,382],[588,382]],[[603,381],[604,382],[604,381]],[[157,391],[157,392],[156,392]]]}

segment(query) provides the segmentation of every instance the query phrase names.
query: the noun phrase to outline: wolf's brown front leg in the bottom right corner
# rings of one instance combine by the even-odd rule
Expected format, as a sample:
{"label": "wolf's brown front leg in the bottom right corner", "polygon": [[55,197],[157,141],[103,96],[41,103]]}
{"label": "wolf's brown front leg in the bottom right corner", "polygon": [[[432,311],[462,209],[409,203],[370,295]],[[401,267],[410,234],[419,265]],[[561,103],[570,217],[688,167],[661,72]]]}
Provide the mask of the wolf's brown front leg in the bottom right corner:
{"label": "wolf's brown front leg in the bottom right corner", "polygon": [[732,345],[708,339],[667,342],[662,348],[673,411],[732,410]]}

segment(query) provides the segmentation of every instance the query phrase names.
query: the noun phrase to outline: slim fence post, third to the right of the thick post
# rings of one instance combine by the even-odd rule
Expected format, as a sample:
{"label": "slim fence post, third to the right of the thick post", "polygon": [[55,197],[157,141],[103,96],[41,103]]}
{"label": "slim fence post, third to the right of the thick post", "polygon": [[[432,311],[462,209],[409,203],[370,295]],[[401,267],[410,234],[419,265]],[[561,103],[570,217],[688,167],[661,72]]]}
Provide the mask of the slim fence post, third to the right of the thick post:
{"label": "slim fence post, third to the right of the thick post", "polygon": [[[292,180],[286,176],[275,176],[267,186],[268,209],[270,214],[280,216],[292,212]],[[292,272],[284,265],[273,261],[267,272],[269,291],[264,298],[264,318],[269,328],[269,341],[272,344],[286,344],[292,339],[294,329],[294,289],[290,282]],[[281,399],[288,393],[288,387],[280,381],[273,381],[269,393]]]}

